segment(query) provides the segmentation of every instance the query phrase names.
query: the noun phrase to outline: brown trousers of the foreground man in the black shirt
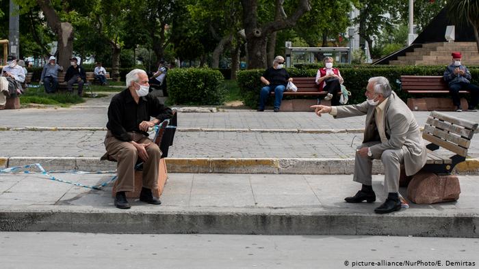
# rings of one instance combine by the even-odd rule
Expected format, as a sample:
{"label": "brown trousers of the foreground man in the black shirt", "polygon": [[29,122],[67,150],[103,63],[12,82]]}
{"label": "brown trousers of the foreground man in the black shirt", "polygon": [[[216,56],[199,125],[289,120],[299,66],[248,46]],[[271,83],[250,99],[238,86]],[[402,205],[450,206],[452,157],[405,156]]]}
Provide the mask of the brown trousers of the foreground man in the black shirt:
{"label": "brown trousers of the foreground man in the black shirt", "polygon": [[[161,151],[157,144],[138,132],[129,132],[136,143],[151,143],[146,147],[148,160],[143,163],[143,187],[155,190],[158,188],[158,169]],[[105,148],[109,156],[118,161],[116,171],[118,179],[116,191],[133,191],[135,185],[135,164],[138,160],[136,147],[129,142],[120,141],[108,131],[105,137]]]}

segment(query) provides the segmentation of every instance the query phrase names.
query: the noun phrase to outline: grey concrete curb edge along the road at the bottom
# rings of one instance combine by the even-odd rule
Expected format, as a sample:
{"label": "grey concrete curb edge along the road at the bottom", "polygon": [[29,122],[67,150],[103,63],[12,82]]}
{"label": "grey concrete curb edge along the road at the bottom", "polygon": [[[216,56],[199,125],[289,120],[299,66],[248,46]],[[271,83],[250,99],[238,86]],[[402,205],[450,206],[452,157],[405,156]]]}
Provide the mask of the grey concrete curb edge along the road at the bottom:
{"label": "grey concrete curb edge along the road at the bottom", "polygon": [[478,225],[476,213],[419,214],[413,210],[377,215],[335,209],[325,212],[314,208],[195,208],[193,211],[161,207],[159,212],[64,206],[0,209],[0,231],[478,238]]}

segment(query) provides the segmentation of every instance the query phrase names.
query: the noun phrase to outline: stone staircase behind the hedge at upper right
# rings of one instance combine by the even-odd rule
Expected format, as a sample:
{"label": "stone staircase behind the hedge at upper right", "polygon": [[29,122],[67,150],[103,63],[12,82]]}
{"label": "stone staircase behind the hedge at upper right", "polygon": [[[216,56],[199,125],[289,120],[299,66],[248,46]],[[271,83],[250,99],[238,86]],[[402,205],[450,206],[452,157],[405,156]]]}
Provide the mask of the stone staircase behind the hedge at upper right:
{"label": "stone staircase behind the hedge at upper right", "polygon": [[475,42],[437,42],[423,44],[413,52],[389,61],[396,66],[442,66],[451,62],[451,53],[460,51],[466,66],[479,66],[478,47]]}

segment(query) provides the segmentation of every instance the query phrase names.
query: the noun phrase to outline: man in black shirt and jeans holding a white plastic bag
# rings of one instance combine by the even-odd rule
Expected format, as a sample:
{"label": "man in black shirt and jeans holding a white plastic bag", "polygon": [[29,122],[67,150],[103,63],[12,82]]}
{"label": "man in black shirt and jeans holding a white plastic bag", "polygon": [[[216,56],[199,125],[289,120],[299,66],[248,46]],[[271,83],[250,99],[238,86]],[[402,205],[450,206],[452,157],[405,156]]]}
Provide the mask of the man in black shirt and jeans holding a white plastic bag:
{"label": "man in black shirt and jeans holding a white plastic bag", "polygon": [[288,81],[293,81],[289,74],[284,69],[285,59],[281,56],[276,56],[273,61],[273,66],[266,69],[261,76],[261,82],[266,86],[261,88],[259,92],[259,107],[258,111],[264,111],[266,100],[270,93],[274,91],[274,112],[279,112],[281,100],[283,100],[283,92],[286,90]]}

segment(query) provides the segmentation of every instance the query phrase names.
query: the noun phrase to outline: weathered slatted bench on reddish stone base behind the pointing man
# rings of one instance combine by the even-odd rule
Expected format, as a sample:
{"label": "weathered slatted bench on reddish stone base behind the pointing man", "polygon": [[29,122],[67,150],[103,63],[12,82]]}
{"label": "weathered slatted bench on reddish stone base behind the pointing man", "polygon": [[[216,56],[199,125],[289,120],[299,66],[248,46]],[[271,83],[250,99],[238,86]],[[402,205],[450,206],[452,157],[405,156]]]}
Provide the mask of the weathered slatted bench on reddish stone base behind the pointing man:
{"label": "weathered slatted bench on reddish stone base behind the pointing man", "polygon": [[[467,156],[471,139],[479,124],[432,111],[426,120],[423,139],[428,158],[426,165],[413,176],[407,189],[408,198],[415,203],[437,203],[459,199],[461,187],[452,169]],[[440,148],[443,151],[439,151]]]}

